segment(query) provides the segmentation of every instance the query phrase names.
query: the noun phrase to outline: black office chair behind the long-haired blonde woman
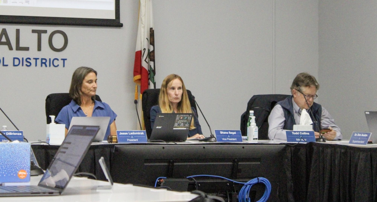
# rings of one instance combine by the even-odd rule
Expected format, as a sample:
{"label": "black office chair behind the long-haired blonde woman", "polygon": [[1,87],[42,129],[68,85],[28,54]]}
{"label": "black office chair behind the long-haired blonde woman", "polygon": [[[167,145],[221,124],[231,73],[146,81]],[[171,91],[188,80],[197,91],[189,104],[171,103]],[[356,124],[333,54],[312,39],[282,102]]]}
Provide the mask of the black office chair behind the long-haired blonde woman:
{"label": "black office chair behind the long-haired blonde woman", "polygon": [[[144,90],[141,106],[143,108],[143,118],[144,118],[144,126],[147,132],[148,139],[150,138],[150,134],[152,134],[152,127],[150,125],[150,109],[158,104],[158,95],[160,93],[160,89],[147,89]],[[187,94],[189,95],[189,101],[191,107],[194,107],[196,110],[196,117],[198,117],[198,110],[196,109],[195,100],[192,98],[192,94],[190,90],[187,90]]]}

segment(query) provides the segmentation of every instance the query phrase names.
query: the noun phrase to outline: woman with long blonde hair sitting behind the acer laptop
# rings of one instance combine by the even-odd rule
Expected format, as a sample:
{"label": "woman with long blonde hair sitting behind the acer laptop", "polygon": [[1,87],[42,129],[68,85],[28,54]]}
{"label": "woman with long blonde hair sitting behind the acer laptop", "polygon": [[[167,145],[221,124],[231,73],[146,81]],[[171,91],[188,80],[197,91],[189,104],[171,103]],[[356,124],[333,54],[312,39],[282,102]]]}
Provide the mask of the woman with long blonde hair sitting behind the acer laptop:
{"label": "woman with long blonde hair sitting behind the acer laptop", "polygon": [[190,105],[189,96],[181,77],[176,74],[170,74],[162,81],[158,104],[150,109],[152,129],[157,113],[193,113],[194,117],[187,139],[204,138],[198,117],[195,116],[195,108]]}

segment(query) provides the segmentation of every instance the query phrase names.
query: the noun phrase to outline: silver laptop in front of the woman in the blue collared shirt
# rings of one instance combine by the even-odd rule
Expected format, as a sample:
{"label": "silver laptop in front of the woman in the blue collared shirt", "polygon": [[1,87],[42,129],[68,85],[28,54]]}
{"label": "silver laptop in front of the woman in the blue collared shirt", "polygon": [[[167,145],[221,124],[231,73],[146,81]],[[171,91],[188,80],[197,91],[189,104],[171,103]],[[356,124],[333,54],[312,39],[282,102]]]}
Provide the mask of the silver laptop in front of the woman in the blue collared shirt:
{"label": "silver laptop in front of the woman in the blue collared shirt", "polygon": [[95,136],[93,142],[101,142],[104,140],[107,141],[107,139],[104,139],[104,137],[106,135],[106,130],[109,122],[109,116],[72,117],[69,129],[71,128],[71,125],[97,125],[100,126],[100,131]]}

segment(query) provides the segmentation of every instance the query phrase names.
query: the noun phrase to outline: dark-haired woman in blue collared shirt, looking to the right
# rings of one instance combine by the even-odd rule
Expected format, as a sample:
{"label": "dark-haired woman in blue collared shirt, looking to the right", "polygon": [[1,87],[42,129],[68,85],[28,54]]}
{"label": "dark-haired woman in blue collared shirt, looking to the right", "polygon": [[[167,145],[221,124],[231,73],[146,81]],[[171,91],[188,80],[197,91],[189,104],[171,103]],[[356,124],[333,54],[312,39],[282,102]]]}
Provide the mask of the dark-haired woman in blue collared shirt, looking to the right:
{"label": "dark-haired woman in blue collared shirt, looking to the right", "polygon": [[78,67],[72,75],[69,96],[72,101],[60,110],[55,122],[66,125],[66,135],[74,116],[110,116],[107,136],[116,135],[116,113],[106,103],[95,100],[97,91],[97,72],[90,67]]}

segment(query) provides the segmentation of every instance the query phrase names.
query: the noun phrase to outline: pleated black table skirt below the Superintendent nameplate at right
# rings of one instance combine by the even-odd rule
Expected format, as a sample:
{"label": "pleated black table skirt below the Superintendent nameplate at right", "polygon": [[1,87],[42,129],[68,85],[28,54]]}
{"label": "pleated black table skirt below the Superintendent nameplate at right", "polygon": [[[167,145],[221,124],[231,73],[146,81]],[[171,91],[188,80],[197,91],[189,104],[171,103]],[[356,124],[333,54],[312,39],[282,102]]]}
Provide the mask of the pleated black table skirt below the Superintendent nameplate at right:
{"label": "pleated black table skirt below the Superintendent nameplate at right", "polygon": [[377,200],[377,148],[309,143],[286,151],[287,187],[294,201]]}

